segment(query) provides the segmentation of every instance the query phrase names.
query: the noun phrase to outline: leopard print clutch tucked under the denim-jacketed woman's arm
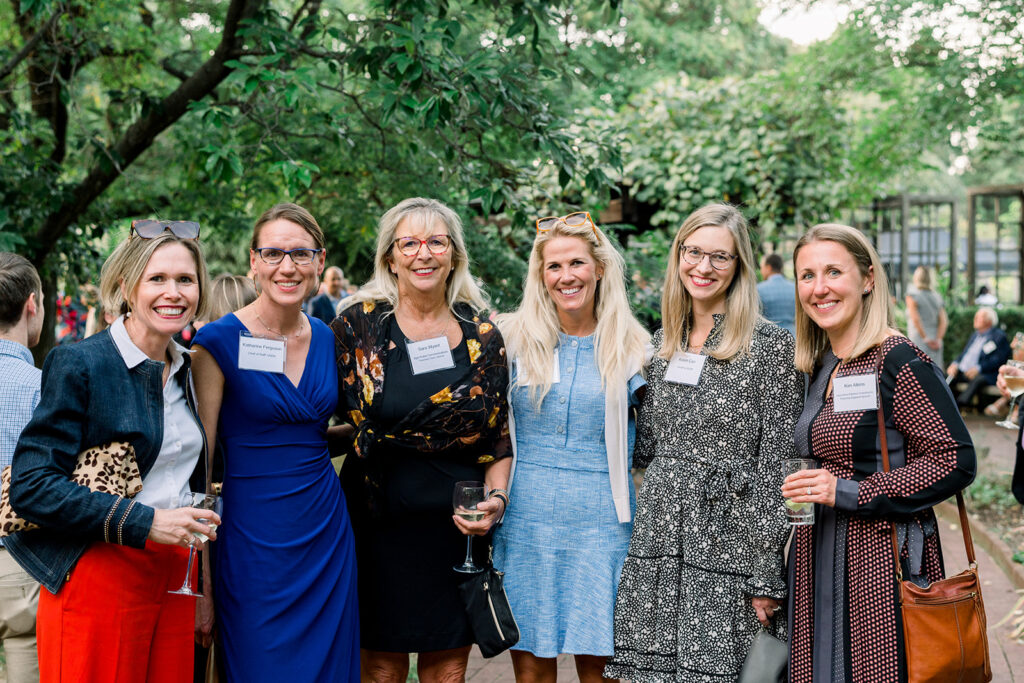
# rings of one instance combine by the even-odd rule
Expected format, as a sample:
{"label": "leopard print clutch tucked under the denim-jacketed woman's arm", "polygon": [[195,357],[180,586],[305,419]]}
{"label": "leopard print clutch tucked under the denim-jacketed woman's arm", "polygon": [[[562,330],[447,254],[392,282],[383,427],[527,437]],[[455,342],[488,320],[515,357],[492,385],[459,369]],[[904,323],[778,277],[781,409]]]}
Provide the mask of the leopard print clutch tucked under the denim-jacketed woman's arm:
{"label": "leopard print clutch tucked under the denim-jacketed woman's arm", "polygon": [[[90,490],[133,498],[142,490],[142,475],[135,461],[135,449],[126,441],[113,441],[86,449],[78,455],[71,480]],[[39,528],[10,507],[10,466],[0,475],[0,537]]]}

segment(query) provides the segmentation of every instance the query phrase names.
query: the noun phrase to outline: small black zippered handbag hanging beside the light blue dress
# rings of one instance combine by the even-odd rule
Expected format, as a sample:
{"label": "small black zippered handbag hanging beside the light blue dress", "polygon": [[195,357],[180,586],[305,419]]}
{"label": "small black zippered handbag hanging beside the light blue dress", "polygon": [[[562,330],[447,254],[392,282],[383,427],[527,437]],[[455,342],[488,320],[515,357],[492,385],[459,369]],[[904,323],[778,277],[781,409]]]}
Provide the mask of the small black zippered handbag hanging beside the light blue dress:
{"label": "small black zippered handbag hanging beside the light blue dress", "polygon": [[519,642],[519,626],[505,595],[505,572],[488,561],[486,569],[459,585],[459,592],[473,639],[484,657],[501,654]]}

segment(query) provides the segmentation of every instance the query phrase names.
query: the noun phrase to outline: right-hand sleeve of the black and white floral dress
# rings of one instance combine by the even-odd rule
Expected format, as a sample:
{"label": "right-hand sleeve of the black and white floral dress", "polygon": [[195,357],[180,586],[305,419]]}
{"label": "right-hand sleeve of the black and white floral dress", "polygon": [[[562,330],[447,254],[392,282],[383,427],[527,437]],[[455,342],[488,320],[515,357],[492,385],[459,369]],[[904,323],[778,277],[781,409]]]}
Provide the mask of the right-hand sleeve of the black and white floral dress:
{"label": "right-hand sleeve of the black and white floral dress", "polygon": [[781,493],[782,459],[797,457],[793,434],[804,403],[804,382],[793,364],[793,337],[778,328],[768,329],[772,334],[765,335],[757,364],[763,373],[758,387],[761,441],[755,465],[760,485],[754,494],[757,514],[750,537],[751,554],[762,561],[746,580],[746,592],[781,599],[786,592],[782,551],[790,533]]}

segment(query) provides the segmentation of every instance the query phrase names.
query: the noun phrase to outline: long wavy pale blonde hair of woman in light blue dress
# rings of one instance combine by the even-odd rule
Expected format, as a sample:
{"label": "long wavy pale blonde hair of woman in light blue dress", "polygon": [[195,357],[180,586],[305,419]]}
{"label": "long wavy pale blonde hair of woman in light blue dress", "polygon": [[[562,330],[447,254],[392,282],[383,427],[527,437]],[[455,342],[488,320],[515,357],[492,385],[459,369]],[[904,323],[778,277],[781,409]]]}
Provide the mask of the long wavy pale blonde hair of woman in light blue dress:
{"label": "long wavy pale blonde hair of woman in light blue dress", "polygon": [[530,399],[537,407],[551,389],[554,349],[558,345],[558,310],[544,285],[544,248],[556,238],[582,240],[596,264],[604,269],[594,294],[594,345],[601,387],[607,390],[609,381],[624,378],[632,367],[641,367],[650,342],[650,335],[630,310],[623,256],[600,228],[591,227],[591,223],[572,226],[558,221],[550,230],[538,232],[529,253],[522,301],[514,312],[498,318],[509,357],[516,358],[515,386],[529,385]]}

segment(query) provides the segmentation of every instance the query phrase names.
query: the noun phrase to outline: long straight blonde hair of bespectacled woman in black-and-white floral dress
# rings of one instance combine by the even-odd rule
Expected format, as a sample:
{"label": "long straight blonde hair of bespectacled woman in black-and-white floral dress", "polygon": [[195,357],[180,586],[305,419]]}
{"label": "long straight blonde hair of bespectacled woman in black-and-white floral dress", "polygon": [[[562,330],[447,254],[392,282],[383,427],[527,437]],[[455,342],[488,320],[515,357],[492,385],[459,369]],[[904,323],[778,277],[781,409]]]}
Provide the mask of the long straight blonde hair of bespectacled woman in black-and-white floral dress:
{"label": "long straight blonde hair of bespectacled woman in black-and-white floral dress", "polygon": [[692,323],[693,302],[679,276],[679,248],[683,241],[701,227],[724,227],[736,246],[736,271],[725,293],[725,323],[718,346],[708,351],[719,360],[728,360],[751,349],[754,326],[761,319],[761,299],[758,297],[754,250],[750,227],[739,210],[728,204],[702,206],[683,221],[672,241],[669,264],[665,269],[662,291],[662,326],[665,338],[657,354],[666,359],[682,350],[683,340]]}

